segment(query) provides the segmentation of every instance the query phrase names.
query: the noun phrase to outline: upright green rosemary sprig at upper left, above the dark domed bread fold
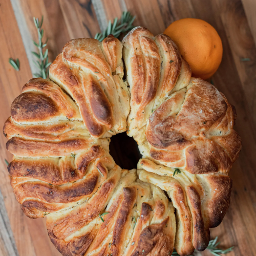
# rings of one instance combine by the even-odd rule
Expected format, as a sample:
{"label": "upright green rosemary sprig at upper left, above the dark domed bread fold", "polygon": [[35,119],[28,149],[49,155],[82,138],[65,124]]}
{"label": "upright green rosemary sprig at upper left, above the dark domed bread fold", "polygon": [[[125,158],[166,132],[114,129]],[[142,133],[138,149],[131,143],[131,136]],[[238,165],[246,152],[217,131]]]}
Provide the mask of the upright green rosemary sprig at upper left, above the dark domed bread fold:
{"label": "upright green rosemary sprig at upper left, above the dark domed bread fold", "polygon": [[44,16],[42,16],[41,21],[38,18],[34,17],[35,27],[38,34],[38,43],[33,40],[34,45],[38,48],[37,52],[32,52],[37,58],[37,61],[33,61],[35,66],[39,69],[38,73],[35,73],[35,77],[47,78],[49,75],[49,66],[51,62],[48,61],[48,49],[43,52],[43,49],[47,46],[47,41],[42,42],[42,37],[44,36],[44,29],[42,29],[42,22],[44,21]]}

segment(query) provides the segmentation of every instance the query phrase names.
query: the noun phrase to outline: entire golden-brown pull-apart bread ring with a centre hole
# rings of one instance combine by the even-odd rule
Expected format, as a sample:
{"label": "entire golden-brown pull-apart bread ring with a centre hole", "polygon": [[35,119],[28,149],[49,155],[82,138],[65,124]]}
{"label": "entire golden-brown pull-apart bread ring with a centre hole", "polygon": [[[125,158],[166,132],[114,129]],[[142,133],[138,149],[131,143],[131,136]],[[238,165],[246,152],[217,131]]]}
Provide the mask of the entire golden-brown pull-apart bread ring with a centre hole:
{"label": "entire golden-brown pull-apart bread ring with a centre hole", "polygon": [[[69,41],[49,77],[25,84],[4,126],[24,214],[47,217],[65,256],[204,250],[229,206],[241,150],[225,96],[191,78],[168,36],[141,27],[122,43]],[[125,131],[143,156],[138,170],[109,154],[110,137]]]}

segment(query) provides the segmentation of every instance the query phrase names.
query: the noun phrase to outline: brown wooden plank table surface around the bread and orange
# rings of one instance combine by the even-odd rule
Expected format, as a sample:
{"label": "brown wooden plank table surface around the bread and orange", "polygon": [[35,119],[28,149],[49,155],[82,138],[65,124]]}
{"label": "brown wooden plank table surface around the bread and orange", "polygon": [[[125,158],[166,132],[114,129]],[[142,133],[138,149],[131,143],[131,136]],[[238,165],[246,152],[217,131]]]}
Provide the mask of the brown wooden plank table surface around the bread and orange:
{"label": "brown wooden plank table surface around the bread and orange", "polygon": [[[0,0],[0,127],[10,105],[32,78],[37,40],[33,16],[44,15],[50,60],[72,38],[94,37],[109,19],[129,10],[135,25],[162,33],[174,20],[201,18],[216,28],[223,42],[223,59],[212,77],[215,86],[236,106],[236,130],[243,148],[230,171],[231,204],[222,224],[211,230],[223,247],[235,246],[229,256],[256,255],[256,1],[255,0]],[[19,58],[20,71],[8,63]],[[248,61],[242,61],[249,58]],[[0,137],[0,255],[56,256],[47,236],[45,219],[25,217],[16,202],[5,159],[6,138]],[[203,252],[203,255],[210,255]]]}

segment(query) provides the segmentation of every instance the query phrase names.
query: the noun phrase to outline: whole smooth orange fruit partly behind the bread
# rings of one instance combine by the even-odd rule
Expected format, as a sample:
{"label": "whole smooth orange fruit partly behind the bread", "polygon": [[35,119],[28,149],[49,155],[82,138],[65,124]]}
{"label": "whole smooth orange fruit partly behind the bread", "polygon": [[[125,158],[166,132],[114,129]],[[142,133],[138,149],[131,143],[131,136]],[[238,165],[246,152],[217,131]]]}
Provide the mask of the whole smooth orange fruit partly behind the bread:
{"label": "whole smooth orange fruit partly behind the bread", "polygon": [[197,18],[183,18],[170,24],[164,34],[178,46],[194,77],[209,78],[219,68],[222,42],[209,23]]}

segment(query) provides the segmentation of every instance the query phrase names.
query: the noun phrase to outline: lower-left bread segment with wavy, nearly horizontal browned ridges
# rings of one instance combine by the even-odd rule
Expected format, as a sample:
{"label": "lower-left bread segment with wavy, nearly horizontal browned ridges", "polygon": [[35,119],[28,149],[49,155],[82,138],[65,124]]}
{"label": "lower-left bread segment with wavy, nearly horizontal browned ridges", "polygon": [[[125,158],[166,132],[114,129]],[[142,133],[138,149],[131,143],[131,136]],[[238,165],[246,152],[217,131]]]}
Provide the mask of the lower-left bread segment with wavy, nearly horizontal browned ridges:
{"label": "lower-left bread segment with wavy, nearly horizontal browned ridges", "polygon": [[90,198],[115,166],[103,147],[93,144],[78,154],[14,157],[8,170],[17,201],[30,218],[39,218]]}

